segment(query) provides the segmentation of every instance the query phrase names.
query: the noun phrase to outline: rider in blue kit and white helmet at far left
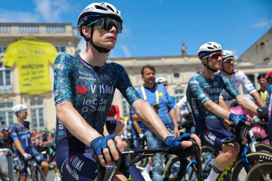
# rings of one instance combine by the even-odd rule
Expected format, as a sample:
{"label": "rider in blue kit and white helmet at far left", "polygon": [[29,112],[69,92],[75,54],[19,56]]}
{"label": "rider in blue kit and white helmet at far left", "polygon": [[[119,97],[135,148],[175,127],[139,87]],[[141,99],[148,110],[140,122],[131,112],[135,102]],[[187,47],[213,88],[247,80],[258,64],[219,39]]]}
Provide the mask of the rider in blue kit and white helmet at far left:
{"label": "rider in blue kit and white helmet at far left", "polygon": [[36,155],[35,159],[38,164],[43,167],[44,176],[48,173],[48,163],[42,154],[39,154],[31,144],[31,135],[29,132],[29,122],[24,121],[28,115],[27,106],[18,104],[12,108],[13,113],[17,116],[17,120],[10,126],[11,137],[17,149],[16,153],[19,158],[24,158],[24,167],[20,165],[21,181],[27,179],[27,163],[32,155]]}

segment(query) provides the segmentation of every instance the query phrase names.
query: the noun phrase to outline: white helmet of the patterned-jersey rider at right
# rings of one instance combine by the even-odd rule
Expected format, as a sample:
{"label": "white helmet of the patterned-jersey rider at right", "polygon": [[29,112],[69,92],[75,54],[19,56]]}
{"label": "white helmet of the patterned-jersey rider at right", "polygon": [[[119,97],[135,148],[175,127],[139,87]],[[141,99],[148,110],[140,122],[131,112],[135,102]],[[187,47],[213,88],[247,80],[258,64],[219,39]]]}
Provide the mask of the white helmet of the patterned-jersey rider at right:
{"label": "white helmet of the patterned-jersey rider at right", "polygon": [[222,52],[222,46],[219,43],[215,42],[207,42],[203,45],[201,45],[197,51],[198,58],[200,59],[203,56],[206,56],[207,54],[211,52]]}

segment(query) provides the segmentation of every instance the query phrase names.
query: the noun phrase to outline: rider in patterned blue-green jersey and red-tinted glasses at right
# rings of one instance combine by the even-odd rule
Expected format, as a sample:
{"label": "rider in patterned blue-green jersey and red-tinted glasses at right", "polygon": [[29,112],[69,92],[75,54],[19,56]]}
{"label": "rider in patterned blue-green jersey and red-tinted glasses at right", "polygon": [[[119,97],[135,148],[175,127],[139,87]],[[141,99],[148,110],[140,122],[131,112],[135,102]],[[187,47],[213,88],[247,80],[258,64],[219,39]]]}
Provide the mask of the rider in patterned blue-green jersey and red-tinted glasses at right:
{"label": "rider in patterned blue-green jersey and red-tinted glasses at right", "polygon": [[222,118],[232,121],[235,126],[250,125],[249,116],[235,115],[218,105],[222,89],[224,88],[241,106],[255,114],[257,114],[257,106],[248,105],[247,99],[235,90],[227,77],[215,75],[223,57],[220,44],[215,42],[203,44],[199,47],[198,56],[204,68],[202,72],[189,80],[186,91],[187,100],[196,123],[196,134],[199,135],[202,144],[223,151],[215,159],[214,167],[207,178],[207,181],[210,181],[216,180],[219,173],[236,157],[240,149],[237,142],[222,144],[222,139],[231,135],[231,132],[223,125]]}

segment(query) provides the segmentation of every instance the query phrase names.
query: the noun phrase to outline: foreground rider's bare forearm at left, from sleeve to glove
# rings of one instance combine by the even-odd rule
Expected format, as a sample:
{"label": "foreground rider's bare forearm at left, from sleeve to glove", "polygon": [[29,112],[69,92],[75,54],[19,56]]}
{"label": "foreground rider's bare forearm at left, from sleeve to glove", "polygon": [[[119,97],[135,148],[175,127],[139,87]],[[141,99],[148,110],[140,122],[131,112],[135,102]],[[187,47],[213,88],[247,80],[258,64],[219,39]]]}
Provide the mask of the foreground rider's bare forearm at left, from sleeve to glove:
{"label": "foreground rider's bare forearm at left, from sleeve to glove", "polygon": [[62,102],[57,104],[56,110],[58,120],[87,146],[90,146],[93,139],[102,136],[83,119],[72,103]]}

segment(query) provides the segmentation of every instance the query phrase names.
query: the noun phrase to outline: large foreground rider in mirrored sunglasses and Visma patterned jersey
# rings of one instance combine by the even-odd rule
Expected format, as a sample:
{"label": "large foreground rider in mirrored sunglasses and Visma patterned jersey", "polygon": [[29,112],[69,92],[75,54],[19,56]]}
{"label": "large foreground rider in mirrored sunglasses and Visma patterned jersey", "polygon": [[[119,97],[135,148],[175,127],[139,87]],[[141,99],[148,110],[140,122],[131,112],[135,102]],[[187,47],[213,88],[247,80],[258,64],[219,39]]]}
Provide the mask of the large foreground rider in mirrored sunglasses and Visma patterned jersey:
{"label": "large foreground rider in mirrored sunglasses and Visma patterned jersey", "polygon": [[[127,146],[118,135],[103,136],[115,88],[170,149],[192,144],[182,141],[182,137],[174,138],[168,132],[153,108],[141,100],[123,66],[105,62],[107,53],[115,47],[118,33],[122,31],[122,23],[121,12],[113,5],[90,4],[80,13],[77,23],[79,34],[87,42],[86,50],[78,55],[63,53],[55,60],[56,162],[67,180],[94,180],[97,167],[92,153],[95,152],[101,164],[109,168],[113,164],[112,158],[119,159],[114,141],[119,151],[124,151]],[[191,137],[200,146],[199,138],[196,135]],[[130,172],[131,179],[143,180],[135,167],[131,169],[134,169]],[[127,180],[127,171],[118,172],[116,177]]]}

